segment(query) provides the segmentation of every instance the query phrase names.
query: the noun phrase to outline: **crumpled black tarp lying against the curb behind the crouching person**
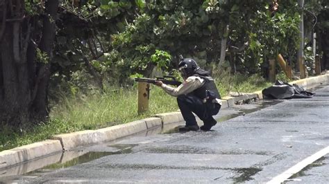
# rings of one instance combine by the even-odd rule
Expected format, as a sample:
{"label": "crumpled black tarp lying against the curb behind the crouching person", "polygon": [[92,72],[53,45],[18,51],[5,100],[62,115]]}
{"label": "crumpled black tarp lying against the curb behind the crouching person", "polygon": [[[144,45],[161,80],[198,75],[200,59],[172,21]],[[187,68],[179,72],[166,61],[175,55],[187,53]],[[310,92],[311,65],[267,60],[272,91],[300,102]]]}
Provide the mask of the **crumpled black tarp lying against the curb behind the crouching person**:
{"label": "crumpled black tarp lying against the curb behind the crouching person", "polygon": [[297,84],[288,84],[277,80],[273,86],[263,89],[264,98],[271,99],[292,99],[292,98],[312,98],[315,93],[305,91]]}

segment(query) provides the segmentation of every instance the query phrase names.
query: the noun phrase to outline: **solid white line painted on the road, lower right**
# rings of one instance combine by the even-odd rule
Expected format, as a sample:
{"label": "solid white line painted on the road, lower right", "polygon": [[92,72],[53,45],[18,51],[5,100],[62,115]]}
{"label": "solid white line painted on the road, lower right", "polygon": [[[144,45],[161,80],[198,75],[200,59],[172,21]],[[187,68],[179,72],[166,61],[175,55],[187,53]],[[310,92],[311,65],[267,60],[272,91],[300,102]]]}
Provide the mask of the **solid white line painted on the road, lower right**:
{"label": "solid white line painted on the road, lower right", "polygon": [[287,169],[287,171],[283,172],[282,174],[274,177],[271,181],[267,182],[267,184],[284,182],[285,180],[287,180],[287,178],[290,178],[292,175],[300,172],[301,169],[305,168],[307,165],[310,165],[311,163],[314,163],[314,161],[318,160],[319,158],[325,156],[328,153],[329,153],[329,146],[324,149],[321,149],[320,151],[313,154],[312,156],[305,158],[300,163],[297,163],[296,165],[290,167],[289,169]]}

